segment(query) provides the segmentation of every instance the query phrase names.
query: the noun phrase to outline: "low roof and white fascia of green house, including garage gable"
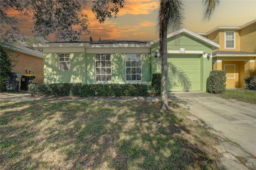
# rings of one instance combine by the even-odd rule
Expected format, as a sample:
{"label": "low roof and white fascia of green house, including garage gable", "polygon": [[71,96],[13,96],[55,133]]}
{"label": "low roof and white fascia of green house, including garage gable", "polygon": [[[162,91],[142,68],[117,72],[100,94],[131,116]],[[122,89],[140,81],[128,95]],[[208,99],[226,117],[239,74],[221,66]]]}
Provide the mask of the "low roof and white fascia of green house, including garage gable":
{"label": "low roof and white fascia of green house, including garage gable", "polygon": [[[215,43],[207,38],[204,38],[186,28],[182,28],[176,32],[167,35],[167,38],[176,36],[180,33],[187,34],[201,42],[204,42],[212,47],[212,49],[220,48],[218,43]],[[153,41],[140,41],[140,40],[103,40],[93,42],[50,42],[50,43],[34,43],[33,46],[37,48],[54,48],[54,47],[84,47],[84,48],[109,48],[109,47],[151,47],[151,45],[158,43],[159,38]]]}

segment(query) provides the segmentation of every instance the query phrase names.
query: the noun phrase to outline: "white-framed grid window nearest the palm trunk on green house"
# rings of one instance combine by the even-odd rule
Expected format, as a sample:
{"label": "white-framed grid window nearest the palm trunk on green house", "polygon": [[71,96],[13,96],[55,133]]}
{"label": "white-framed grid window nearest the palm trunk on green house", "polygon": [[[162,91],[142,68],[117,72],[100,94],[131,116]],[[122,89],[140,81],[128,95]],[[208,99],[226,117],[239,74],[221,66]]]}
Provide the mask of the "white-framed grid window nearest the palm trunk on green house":
{"label": "white-framed grid window nearest the palm trunk on green house", "polygon": [[141,54],[126,54],[126,81],[141,81]]}

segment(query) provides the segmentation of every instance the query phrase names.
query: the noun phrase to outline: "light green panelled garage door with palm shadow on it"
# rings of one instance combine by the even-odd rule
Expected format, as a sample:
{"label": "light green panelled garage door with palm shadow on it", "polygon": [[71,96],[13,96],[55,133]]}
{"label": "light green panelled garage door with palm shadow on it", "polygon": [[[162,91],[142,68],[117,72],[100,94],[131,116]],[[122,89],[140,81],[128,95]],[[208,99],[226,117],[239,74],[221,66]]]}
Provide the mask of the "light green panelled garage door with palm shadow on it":
{"label": "light green panelled garage door with palm shadow on it", "polygon": [[[168,55],[167,63],[168,91],[200,91],[200,56]],[[178,79],[174,71],[183,73],[185,77]],[[182,83],[184,80],[186,83]],[[184,84],[187,88],[184,88]]]}

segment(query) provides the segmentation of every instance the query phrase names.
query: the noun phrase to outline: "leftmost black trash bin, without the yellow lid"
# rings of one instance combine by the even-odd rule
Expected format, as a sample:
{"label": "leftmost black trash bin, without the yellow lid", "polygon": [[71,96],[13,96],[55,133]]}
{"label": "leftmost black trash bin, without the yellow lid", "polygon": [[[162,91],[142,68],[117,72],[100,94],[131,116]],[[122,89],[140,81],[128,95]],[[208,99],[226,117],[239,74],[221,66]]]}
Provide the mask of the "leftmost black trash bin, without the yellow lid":
{"label": "leftmost black trash bin, without the yellow lid", "polygon": [[10,78],[7,80],[6,91],[18,91],[21,77],[22,73],[11,72]]}

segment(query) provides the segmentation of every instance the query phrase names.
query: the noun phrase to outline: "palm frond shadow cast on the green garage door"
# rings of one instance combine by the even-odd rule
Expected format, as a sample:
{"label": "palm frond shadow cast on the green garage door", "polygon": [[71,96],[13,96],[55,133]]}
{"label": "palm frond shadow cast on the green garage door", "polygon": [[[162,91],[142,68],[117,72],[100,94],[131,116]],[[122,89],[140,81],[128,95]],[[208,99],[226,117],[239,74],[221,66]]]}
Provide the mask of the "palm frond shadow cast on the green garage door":
{"label": "palm frond shadow cast on the green garage door", "polygon": [[170,90],[174,89],[175,86],[182,86],[183,91],[189,91],[191,89],[191,81],[185,71],[180,67],[177,67],[172,62],[168,63],[168,83]]}

